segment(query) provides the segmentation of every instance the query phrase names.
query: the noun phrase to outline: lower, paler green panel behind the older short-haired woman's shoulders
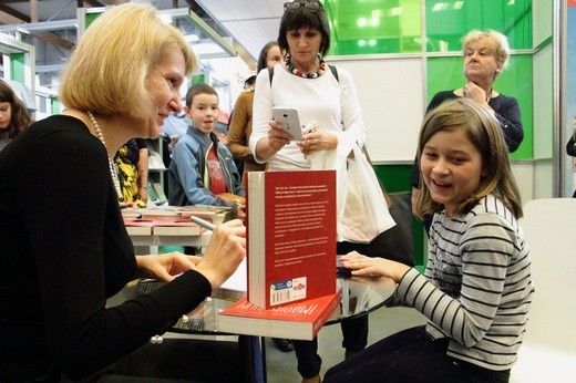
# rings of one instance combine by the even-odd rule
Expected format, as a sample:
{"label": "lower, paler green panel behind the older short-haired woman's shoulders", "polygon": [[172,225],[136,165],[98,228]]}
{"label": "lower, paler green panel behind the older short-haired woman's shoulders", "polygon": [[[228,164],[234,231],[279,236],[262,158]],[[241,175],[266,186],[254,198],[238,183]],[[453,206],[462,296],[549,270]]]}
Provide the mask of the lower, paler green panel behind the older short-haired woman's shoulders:
{"label": "lower, paler green panel behind the older short-haired woman's shoulders", "polygon": [[[429,58],[428,101],[440,91],[464,85],[463,58]],[[531,159],[533,157],[533,83],[532,55],[515,54],[510,58],[510,66],[496,79],[494,90],[518,101],[524,126],[524,141],[511,157]]]}

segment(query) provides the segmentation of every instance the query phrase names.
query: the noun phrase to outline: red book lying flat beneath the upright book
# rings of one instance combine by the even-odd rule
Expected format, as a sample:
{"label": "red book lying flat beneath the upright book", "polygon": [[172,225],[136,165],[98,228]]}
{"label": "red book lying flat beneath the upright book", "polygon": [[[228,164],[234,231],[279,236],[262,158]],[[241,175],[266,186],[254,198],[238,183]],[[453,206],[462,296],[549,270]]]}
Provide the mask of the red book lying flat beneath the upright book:
{"label": "red book lying flat beneath the upright book", "polygon": [[218,330],[234,334],[312,340],[332,314],[339,314],[339,304],[340,292],[270,310],[243,298],[218,314]]}

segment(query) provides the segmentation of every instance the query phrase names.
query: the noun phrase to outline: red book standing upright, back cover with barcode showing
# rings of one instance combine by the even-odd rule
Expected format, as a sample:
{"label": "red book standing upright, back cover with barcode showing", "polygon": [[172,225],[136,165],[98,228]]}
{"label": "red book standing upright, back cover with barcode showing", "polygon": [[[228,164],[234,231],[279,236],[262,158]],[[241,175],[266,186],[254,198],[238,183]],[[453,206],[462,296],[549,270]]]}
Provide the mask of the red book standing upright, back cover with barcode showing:
{"label": "red book standing upright, back cover with barcode showing", "polygon": [[248,301],[270,309],[332,294],[336,172],[247,175]]}

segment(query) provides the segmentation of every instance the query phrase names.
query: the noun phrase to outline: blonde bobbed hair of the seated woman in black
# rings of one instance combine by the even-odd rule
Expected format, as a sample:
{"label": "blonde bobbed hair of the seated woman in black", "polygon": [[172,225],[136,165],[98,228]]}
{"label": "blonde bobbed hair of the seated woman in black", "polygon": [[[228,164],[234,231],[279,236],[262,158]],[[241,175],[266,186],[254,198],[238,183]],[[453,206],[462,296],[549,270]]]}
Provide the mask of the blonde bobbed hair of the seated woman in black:
{"label": "blonde bobbed hair of the seated woman in black", "polygon": [[124,3],[92,22],[62,73],[60,100],[66,107],[147,120],[155,113],[147,79],[165,51],[182,51],[186,75],[196,70],[189,43],[156,12],[150,4]]}

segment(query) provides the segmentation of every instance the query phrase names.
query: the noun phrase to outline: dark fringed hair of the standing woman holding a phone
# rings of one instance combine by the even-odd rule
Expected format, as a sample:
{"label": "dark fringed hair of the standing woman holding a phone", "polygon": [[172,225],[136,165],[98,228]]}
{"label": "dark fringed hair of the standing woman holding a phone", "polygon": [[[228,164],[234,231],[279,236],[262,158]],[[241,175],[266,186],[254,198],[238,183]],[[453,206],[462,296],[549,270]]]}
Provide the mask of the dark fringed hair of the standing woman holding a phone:
{"label": "dark fringed hair of the standing woman holding a phone", "polygon": [[[282,52],[290,52],[288,49],[288,41],[286,33],[298,30],[300,28],[316,29],[322,34],[322,42],[320,43],[320,56],[323,58],[330,49],[330,25],[322,7],[318,0],[296,0],[301,7],[294,12],[285,11],[280,20],[280,30],[278,32],[278,45]],[[318,10],[309,11],[304,4],[307,2],[317,2]]]}

